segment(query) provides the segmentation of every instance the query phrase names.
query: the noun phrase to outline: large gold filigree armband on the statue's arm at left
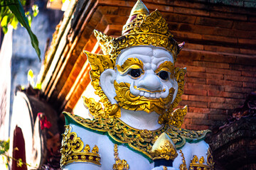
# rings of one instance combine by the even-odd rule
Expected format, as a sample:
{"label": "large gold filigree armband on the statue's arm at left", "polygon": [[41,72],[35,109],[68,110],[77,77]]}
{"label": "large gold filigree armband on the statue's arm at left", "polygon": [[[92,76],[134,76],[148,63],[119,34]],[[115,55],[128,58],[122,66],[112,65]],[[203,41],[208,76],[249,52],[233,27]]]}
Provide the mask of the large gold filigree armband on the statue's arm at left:
{"label": "large gold filigree armband on the statue's arm at left", "polygon": [[[71,132],[70,125],[65,125],[65,132],[61,143],[60,166],[65,166],[72,162],[90,162],[100,165],[99,148],[95,145],[90,152],[90,146],[85,145],[75,132]],[[82,150],[83,149],[83,150]]]}

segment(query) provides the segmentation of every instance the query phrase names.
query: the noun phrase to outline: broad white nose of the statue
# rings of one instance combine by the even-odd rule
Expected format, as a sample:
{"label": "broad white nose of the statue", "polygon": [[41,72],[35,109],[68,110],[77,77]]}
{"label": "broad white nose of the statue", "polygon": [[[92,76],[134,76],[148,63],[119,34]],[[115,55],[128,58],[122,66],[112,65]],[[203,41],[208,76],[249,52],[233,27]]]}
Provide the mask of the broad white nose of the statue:
{"label": "broad white nose of the statue", "polygon": [[161,81],[156,74],[148,73],[139,81],[138,87],[149,91],[161,90]]}

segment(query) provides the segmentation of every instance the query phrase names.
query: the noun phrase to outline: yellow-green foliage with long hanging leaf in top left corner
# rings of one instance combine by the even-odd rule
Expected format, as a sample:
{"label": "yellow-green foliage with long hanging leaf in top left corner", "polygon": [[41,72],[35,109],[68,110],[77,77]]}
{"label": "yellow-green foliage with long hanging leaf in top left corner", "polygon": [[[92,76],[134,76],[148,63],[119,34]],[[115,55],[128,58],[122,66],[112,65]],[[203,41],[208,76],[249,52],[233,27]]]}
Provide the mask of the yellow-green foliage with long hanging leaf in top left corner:
{"label": "yellow-green foliage with long hanging leaf in top left corner", "polygon": [[31,45],[36,50],[36,54],[38,55],[39,60],[41,61],[40,49],[38,47],[38,39],[36,35],[33,34],[31,30],[31,21],[34,17],[38,15],[38,6],[32,6],[32,12],[23,10],[23,6],[26,4],[26,0],[6,0],[0,1],[0,21],[1,21],[1,28],[4,33],[8,31],[8,25],[17,28],[18,22],[21,23],[21,26],[26,28],[28,31],[28,35],[31,38]]}

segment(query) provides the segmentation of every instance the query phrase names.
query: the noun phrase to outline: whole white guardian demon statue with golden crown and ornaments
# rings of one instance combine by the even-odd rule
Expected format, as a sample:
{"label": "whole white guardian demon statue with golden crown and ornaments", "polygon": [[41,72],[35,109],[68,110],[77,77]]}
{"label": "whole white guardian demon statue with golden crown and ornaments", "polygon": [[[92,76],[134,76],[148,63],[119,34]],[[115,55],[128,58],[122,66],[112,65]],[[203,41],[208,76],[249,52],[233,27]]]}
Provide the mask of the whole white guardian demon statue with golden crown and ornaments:
{"label": "whole white guardian demon statue with golden crown and ornaments", "polygon": [[92,119],[64,113],[62,169],[213,169],[209,130],[181,129],[186,69],[174,67],[178,45],[159,11],[138,0],[122,36],[95,30],[104,55],[85,52],[100,102],[84,98]]}

